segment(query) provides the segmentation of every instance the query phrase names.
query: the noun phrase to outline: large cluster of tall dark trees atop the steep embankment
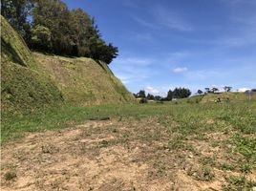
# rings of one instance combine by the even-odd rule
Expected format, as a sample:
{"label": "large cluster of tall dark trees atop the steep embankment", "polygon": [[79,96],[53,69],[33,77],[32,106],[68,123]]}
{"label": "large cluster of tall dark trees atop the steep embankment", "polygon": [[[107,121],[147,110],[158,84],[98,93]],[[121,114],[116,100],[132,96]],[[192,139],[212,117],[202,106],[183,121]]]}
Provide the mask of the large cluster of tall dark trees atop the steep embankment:
{"label": "large cluster of tall dark trees atop the steep embankment", "polygon": [[34,51],[107,64],[117,57],[117,47],[102,39],[95,18],[82,9],[70,11],[61,0],[2,0],[1,14]]}

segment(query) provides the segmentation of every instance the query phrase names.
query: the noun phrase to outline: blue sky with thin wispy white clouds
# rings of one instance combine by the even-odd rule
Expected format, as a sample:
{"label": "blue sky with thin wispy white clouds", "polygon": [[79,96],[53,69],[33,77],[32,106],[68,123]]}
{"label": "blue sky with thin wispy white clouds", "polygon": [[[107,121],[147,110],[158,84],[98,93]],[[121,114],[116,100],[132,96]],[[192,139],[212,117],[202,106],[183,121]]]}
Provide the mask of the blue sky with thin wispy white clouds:
{"label": "blue sky with thin wispy white clouds", "polygon": [[256,88],[256,0],[64,0],[118,47],[110,68],[134,93]]}

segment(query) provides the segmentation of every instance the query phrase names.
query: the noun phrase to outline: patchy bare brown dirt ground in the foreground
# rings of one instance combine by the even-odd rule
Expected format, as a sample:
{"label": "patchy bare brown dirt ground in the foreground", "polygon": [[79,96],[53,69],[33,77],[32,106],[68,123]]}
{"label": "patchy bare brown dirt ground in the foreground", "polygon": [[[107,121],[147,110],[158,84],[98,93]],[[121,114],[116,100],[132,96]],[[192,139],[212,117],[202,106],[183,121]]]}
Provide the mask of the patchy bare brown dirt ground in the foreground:
{"label": "patchy bare brown dirt ground in the foreground", "polygon": [[126,117],[28,134],[2,146],[2,190],[222,190],[237,173],[219,164],[240,157],[218,144],[227,137],[183,142],[170,126]]}

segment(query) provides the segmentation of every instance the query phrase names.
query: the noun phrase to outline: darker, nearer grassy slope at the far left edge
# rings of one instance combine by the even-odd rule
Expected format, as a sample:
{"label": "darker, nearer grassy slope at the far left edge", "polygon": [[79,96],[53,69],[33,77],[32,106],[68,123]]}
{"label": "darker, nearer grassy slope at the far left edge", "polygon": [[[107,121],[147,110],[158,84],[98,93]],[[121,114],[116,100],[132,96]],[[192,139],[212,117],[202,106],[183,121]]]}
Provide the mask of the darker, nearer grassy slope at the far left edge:
{"label": "darker, nearer grassy slope at the far left edge", "polygon": [[1,16],[1,110],[27,113],[62,102],[51,78],[40,73],[24,40]]}

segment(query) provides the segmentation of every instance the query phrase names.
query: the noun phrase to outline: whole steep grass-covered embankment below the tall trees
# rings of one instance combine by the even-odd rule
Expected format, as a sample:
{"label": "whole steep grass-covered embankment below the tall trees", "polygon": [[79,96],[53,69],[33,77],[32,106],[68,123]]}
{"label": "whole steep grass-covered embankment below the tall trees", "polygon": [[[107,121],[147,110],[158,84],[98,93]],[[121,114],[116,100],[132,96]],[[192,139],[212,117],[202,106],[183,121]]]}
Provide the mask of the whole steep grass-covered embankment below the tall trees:
{"label": "whole steep grass-covered embankment below the tall trees", "polygon": [[134,100],[106,64],[31,53],[2,16],[1,29],[3,112],[31,112],[63,102],[89,105]]}

